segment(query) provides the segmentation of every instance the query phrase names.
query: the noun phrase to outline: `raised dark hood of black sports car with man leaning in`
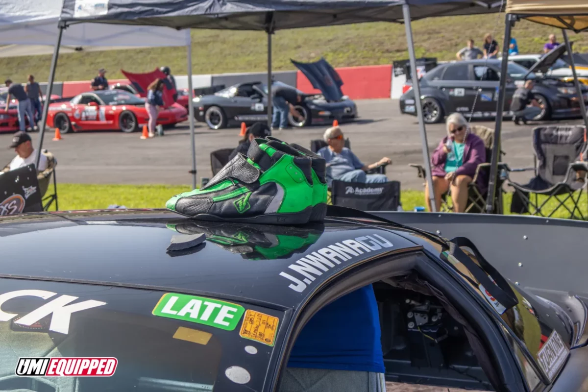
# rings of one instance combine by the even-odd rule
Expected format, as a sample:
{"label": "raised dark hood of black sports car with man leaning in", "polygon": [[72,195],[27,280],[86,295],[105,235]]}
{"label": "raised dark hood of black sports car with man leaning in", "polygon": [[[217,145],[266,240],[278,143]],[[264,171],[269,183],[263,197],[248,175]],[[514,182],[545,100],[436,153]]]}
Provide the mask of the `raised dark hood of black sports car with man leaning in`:
{"label": "raised dark hood of black sports car with man leaning in", "polygon": [[323,93],[326,100],[337,101],[343,98],[343,81],[339,73],[324,58],[313,63],[299,63],[292,59],[290,61],[304,73],[315,89]]}

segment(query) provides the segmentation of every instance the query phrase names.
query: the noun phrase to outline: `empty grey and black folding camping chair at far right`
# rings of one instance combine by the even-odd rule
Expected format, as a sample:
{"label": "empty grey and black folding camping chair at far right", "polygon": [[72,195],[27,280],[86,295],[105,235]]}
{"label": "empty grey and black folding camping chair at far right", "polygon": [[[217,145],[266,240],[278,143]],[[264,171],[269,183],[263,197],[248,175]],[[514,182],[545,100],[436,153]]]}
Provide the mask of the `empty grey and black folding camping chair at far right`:
{"label": "empty grey and black folding camping chair at far right", "polygon": [[[586,219],[578,206],[582,190],[586,188],[588,163],[584,159],[587,153],[586,127],[573,126],[539,126],[533,129],[534,173],[535,176],[525,185],[512,182],[515,188],[510,212],[530,213],[550,217],[560,207],[570,213],[570,219]],[[519,170],[524,171],[525,169]],[[530,193],[534,193],[532,200]],[[539,195],[547,196],[543,202]],[[543,208],[555,199],[557,206],[546,215]],[[565,204],[572,200],[573,209]],[[577,215],[576,215],[577,211]]]}

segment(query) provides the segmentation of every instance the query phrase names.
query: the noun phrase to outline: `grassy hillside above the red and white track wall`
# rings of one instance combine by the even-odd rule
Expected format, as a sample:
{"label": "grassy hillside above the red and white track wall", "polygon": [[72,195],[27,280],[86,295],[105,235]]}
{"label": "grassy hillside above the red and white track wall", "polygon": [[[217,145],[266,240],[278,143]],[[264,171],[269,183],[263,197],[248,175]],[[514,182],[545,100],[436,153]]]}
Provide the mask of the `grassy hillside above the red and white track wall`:
{"label": "grassy hillside above the red and white track wall", "polygon": [[[455,59],[455,53],[465,46],[467,38],[482,45],[485,33],[495,32],[501,41],[504,15],[472,15],[429,18],[413,22],[416,55],[436,57],[439,60]],[[543,48],[549,33],[562,35],[548,26],[519,22],[513,36],[522,53],[535,53]],[[588,50],[588,34],[570,35],[574,50]],[[246,31],[192,31],[192,72],[196,74],[224,72],[266,71],[267,44],[263,32]],[[384,22],[330,26],[322,28],[278,31],[273,40],[273,69],[294,69],[290,58],[313,61],[324,56],[333,66],[390,64],[406,59],[404,26]],[[51,56],[0,58],[0,80],[12,78],[23,82],[28,73],[38,81],[46,81]],[[176,75],[186,74],[185,48],[149,48],[114,50],[106,52],[79,52],[59,56],[57,81],[91,79],[102,66],[108,69],[108,78],[122,78],[120,69],[130,72],[152,71],[168,65]]]}

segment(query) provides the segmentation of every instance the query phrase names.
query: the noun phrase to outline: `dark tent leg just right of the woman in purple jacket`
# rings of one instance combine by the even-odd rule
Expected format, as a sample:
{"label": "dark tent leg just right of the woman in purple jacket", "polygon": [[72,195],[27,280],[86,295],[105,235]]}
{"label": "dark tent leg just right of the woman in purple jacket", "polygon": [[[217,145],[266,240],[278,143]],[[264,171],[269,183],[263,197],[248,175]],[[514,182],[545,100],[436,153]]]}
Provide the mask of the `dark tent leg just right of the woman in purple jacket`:
{"label": "dark tent leg just right of the woman in purple jacket", "polygon": [[498,175],[498,160],[500,159],[500,129],[505,108],[506,79],[508,77],[510,30],[515,22],[510,14],[506,14],[505,41],[502,45],[502,63],[500,64],[500,87],[498,102],[496,103],[496,126],[494,128],[494,145],[492,146],[492,161],[490,163],[490,179],[488,181],[488,196],[486,198],[486,212],[494,211],[494,195],[496,195],[496,179]]}

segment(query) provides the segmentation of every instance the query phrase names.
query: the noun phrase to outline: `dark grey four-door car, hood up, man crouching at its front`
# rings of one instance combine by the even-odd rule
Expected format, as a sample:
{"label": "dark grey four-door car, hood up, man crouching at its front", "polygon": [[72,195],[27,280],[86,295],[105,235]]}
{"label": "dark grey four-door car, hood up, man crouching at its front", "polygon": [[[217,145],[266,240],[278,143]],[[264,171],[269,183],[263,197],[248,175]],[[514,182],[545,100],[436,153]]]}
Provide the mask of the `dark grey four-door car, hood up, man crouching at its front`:
{"label": "dark grey four-door car, hood up, man crouching at its front", "polygon": [[[563,55],[565,46],[547,53],[532,67],[526,69],[509,63],[506,99],[503,115],[511,115],[510,102],[518,86],[526,79],[534,79],[533,93],[542,112],[533,120],[547,120],[580,116],[580,102],[573,82],[560,81],[549,76],[537,76],[533,71],[546,70]],[[427,72],[419,81],[423,115],[426,123],[436,123],[446,115],[461,112],[466,118],[492,118],[496,116],[496,100],[500,81],[499,60],[470,60],[445,63]],[[407,81],[400,97],[400,111],[416,115],[412,81]],[[588,102],[588,86],[582,86],[584,101]],[[475,103],[475,107],[474,106]],[[472,113],[473,112],[473,113]]]}

